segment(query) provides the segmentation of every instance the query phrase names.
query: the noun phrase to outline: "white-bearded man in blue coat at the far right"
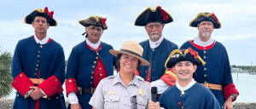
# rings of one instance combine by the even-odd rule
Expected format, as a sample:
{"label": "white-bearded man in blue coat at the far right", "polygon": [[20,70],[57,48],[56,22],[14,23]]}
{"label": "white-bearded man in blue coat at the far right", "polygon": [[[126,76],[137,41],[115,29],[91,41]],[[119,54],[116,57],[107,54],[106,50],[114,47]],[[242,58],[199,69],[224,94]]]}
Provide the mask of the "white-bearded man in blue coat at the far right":
{"label": "white-bearded man in blue coat at the far right", "polygon": [[239,92],[232,80],[227,50],[211,36],[213,29],[221,27],[220,21],[213,13],[200,13],[189,26],[197,27],[199,34],[194,40],[183,43],[180,49],[195,49],[206,61],[205,66],[196,69],[195,81],[210,89],[222,108],[231,109]]}

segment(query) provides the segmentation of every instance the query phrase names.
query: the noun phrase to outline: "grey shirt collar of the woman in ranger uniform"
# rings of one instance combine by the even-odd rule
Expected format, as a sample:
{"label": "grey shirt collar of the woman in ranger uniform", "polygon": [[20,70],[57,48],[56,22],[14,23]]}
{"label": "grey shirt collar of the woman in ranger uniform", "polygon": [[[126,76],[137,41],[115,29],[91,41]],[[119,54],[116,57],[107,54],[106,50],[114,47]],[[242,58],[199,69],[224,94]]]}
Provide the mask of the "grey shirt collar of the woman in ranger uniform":
{"label": "grey shirt collar of the woman in ranger uniform", "polygon": [[[120,77],[120,72],[118,72],[115,75],[115,77],[113,78],[112,85],[115,85],[116,83],[122,83],[125,86],[125,83],[123,83],[123,81]],[[133,75],[131,82],[127,86],[132,85],[132,84],[135,84],[139,88],[138,78],[135,76],[135,74]]]}

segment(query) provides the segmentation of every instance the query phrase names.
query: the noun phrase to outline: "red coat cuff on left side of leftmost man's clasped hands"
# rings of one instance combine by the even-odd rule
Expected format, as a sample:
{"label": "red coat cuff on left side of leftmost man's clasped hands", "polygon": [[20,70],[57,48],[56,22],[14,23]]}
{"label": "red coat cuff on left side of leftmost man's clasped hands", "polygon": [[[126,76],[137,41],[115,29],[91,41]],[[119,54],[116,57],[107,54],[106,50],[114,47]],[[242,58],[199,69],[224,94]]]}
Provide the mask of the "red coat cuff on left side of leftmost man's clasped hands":
{"label": "red coat cuff on left side of leftmost man's clasped hands", "polygon": [[29,86],[35,86],[32,81],[26,77],[24,72],[20,72],[20,74],[15,77],[12,86],[23,96],[25,96],[26,92],[31,90]]}

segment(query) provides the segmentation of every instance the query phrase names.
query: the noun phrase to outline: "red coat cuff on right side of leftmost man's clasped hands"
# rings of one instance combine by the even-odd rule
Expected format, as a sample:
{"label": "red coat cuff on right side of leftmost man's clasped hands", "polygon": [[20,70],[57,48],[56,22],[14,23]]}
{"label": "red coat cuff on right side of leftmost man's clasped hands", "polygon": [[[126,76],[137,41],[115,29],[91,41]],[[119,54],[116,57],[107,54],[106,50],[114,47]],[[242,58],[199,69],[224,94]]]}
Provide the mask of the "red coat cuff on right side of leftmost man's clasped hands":
{"label": "red coat cuff on right side of leftmost man's clasped hands", "polygon": [[40,83],[38,88],[42,89],[47,97],[60,94],[63,91],[60,80],[54,75]]}

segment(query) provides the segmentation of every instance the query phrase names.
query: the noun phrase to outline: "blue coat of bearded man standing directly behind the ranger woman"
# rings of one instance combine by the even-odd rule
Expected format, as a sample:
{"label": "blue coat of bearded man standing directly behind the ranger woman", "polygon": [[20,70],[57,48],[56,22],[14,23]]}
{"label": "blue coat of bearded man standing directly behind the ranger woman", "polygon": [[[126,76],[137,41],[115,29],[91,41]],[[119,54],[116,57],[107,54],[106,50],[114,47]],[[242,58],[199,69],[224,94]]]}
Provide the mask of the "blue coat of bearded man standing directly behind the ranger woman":
{"label": "blue coat of bearded man standing directly behind the ranger woman", "polygon": [[[177,45],[164,38],[157,48],[151,49],[148,40],[139,44],[143,47],[143,59],[151,62],[150,82],[153,82],[160,79],[160,77],[164,75],[166,71],[166,60],[169,54],[171,54],[172,50],[177,49]],[[146,80],[148,75],[148,66],[142,66],[142,70],[139,73],[140,76]]]}

